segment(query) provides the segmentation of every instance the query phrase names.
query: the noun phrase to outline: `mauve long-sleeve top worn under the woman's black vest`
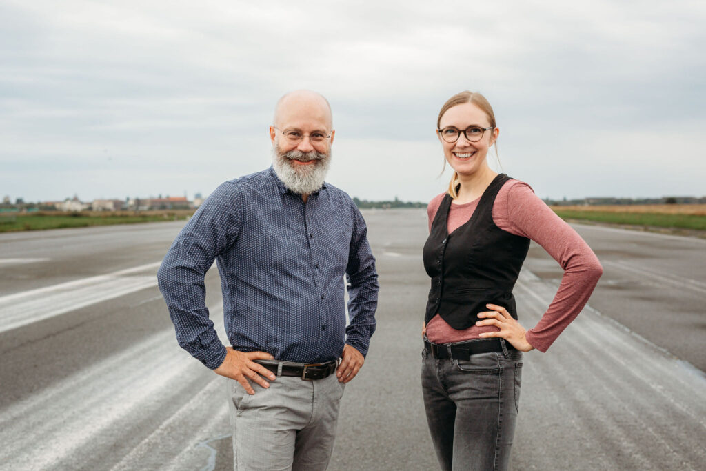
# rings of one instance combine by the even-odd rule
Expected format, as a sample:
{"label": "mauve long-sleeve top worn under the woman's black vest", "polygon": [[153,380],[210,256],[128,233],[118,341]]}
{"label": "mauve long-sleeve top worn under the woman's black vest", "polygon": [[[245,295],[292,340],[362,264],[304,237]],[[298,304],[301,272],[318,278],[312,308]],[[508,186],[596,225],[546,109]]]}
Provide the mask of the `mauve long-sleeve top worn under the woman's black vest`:
{"label": "mauve long-sleeve top worn under the woman's black vest", "polygon": [[[430,229],[444,195],[441,193],[433,198],[426,209]],[[449,233],[470,219],[479,201],[480,198],[477,198],[470,203],[451,204],[447,220]],[[580,235],[522,181],[508,180],[502,186],[493,203],[493,222],[510,234],[537,242],[564,270],[554,300],[537,326],[527,330],[527,342],[537,350],[546,352],[588,302],[603,268]],[[471,326],[457,330],[436,314],[426,325],[426,337],[434,343],[462,342],[480,338],[480,333],[493,330],[498,328]]]}

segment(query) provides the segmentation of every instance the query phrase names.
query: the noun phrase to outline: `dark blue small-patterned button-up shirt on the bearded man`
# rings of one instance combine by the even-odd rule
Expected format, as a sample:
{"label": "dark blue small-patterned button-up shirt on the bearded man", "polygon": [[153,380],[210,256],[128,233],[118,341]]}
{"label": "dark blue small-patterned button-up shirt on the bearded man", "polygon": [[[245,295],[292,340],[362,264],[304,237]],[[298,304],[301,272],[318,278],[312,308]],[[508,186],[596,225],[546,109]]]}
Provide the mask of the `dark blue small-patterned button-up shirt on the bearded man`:
{"label": "dark blue small-patterned button-up shirt on the bearded man", "polygon": [[205,306],[204,276],[216,260],[235,350],[302,363],[337,359],[344,343],[367,354],[378,275],[366,234],[358,208],[333,185],[305,204],[272,167],[225,182],[181,229],[157,273],[179,345],[211,369],[225,359]]}

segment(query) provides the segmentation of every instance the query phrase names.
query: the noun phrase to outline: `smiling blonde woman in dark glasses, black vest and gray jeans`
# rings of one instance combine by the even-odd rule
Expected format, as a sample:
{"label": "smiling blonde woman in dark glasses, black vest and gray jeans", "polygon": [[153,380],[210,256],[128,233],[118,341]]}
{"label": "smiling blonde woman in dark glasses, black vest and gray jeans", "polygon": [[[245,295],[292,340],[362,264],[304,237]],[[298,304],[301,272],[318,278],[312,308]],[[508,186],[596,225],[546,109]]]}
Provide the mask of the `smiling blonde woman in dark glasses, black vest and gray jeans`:
{"label": "smiling blonde woman in dark glasses, black vest and gray jeans", "polygon": [[[602,274],[589,246],[522,181],[488,166],[499,129],[489,102],[462,92],[441,108],[437,133],[453,167],[429,203],[424,268],[424,407],[443,470],[505,470],[515,432],[522,352],[546,352]],[[564,274],[530,330],[517,322],[513,286],[530,239]]]}

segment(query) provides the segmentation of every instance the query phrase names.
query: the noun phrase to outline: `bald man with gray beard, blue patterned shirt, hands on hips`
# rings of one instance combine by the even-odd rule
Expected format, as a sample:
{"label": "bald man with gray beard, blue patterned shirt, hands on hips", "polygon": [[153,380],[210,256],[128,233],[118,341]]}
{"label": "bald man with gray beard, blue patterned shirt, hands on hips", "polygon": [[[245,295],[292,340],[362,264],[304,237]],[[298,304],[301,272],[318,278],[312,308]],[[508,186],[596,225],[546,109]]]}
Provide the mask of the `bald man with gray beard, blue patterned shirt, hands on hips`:
{"label": "bald man with gray beard, blue patterned shirt, hands on hips", "polygon": [[[365,222],[324,182],[334,135],[323,96],[282,97],[270,126],[273,166],[219,186],[157,274],[179,345],[230,378],[236,470],[328,466],[343,388],[375,330]],[[218,340],[204,302],[214,260],[232,347]]]}

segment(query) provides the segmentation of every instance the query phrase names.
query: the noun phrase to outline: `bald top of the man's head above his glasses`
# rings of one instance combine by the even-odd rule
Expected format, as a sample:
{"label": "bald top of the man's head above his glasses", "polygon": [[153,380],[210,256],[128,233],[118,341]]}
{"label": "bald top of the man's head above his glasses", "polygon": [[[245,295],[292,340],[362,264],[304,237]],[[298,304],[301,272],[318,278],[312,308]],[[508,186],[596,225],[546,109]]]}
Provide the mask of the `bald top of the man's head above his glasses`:
{"label": "bald top of the man's head above his glasses", "polygon": [[325,123],[327,131],[333,129],[331,105],[321,93],[312,90],[289,92],[280,98],[275,107],[273,123],[280,129],[302,119]]}

